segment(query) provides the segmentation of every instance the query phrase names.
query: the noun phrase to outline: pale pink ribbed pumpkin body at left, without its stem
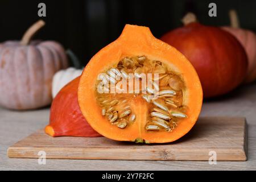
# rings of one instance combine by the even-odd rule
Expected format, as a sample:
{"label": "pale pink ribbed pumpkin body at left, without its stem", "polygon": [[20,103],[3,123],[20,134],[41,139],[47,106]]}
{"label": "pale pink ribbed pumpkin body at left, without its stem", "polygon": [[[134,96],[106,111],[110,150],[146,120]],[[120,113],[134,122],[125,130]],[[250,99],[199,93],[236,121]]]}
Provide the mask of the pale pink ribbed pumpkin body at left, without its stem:
{"label": "pale pink ribbed pumpkin body at left, without its stem", "polygon": [[52,101],[55,72],[68,67],[64,48],[57,42],[18,41],[0,44],[0,105],[9,109],[36,109]]}

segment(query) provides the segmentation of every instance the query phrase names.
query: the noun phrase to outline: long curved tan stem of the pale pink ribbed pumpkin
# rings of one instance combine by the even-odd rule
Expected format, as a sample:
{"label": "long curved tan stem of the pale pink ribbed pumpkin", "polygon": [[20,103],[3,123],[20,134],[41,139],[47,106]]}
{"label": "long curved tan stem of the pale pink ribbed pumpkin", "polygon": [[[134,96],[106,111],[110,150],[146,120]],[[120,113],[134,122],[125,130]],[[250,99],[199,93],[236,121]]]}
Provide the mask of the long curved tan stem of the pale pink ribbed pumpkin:
{"label": "long curved tan stem of the pale pink ribbed pumpkin", "polygon": [[32,37],[42,28],[46,23],[43,20],[38,20],[28,30],[25,32],[25,34],[22,37],[22,40],[20,41],[20,44],[23,46],[26,46],[30,43],[30,40]]}

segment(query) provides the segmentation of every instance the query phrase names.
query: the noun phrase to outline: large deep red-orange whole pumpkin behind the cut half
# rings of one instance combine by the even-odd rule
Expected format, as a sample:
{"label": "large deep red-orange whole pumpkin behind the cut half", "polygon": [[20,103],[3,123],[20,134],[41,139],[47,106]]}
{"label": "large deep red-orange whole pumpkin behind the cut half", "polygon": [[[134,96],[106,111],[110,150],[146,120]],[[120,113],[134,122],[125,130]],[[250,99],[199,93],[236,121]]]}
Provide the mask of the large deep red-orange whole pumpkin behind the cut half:
{"label": "large deep red-orange whole pumpkin behind the cut half", "polygon": [[247,57],[233,35],[221,28],[204,26],[187,14],[184,27],[163,35],[161,40],[183,53],[195,67],[204,97],[220,96],[236,88],[245,78]]}

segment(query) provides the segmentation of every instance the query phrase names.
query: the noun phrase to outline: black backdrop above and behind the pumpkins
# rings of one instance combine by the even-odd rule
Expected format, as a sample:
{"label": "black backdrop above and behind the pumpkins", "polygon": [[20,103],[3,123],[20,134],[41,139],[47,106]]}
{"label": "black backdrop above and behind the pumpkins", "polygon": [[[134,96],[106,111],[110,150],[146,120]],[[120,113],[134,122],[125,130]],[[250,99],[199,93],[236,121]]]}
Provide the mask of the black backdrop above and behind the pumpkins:
{"label": "black backdrop above and behind the pumpkins", "polygon": [[[168,30],[182,26],[188,11],[201,23],[229,24],[229,9],[236,9],[240,25],[256,31],[256,1],[152,1],[152,0],[0,0],[0,42],[19,40],[38,17],[38,3],[46,3],[46,26],[35,39],[57,40],[71,49],[85,65],[90,57],[121,34],[126,23],[150,27],[159,38]],[[208,16],[210,2],[217,4],[217,17]]]}

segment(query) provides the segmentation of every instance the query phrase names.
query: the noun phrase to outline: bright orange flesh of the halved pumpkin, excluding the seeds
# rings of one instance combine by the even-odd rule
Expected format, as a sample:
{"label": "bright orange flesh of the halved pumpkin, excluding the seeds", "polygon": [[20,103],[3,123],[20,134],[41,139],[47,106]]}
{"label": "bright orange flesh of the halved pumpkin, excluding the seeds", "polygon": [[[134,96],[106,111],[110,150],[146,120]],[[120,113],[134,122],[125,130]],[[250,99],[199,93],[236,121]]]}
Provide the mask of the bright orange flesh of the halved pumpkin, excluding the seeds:
{"label": "bright orange flesh of the halved pumpkin, excluding the seeds", "polygon": [[[174,75],[175,78],[179,77],[184,85],[179,98],[182,100],[181,106],[185,109],[181,108],[179,111],[182,110],[186,117],[178,118],[177,126],[173,130],[167,131],[159,125],[156,125],[159,127],[158,130],[146,129],[148,125],[151,125],[148,120],[152,119],[150,113],[155,106],[152,102],[145,101],[141,92],[138,94],[116,93],[112,96],[111,94],[104,96],[97,92],[98,75],[113,68],[119,70],[120,62],[125,59],[132,60],[134,57],[142,56],[150,62],[149,67],[154,67],[152,61],[164,65],[168,74]],[[108,97],[111,98],[111,101],[118,100],[118,107],[122,107],[122,101],[126,100],[131,113],[124,118],[129,120],[130,115],[135,114],[134,121],[128,122],[127,126],[121,129],[118,127],[119,122],[112,123],[109,121],[108,115],[102,115],[102,109],[104,109],[102,101]],[[122,141],[141,140],[146,143],[166,143],[179,139],[191,130],[201,110],[203,93],[199,77],[185,56],[175,48],[156,39],[149,28],[126,25],[121,36],[115,42],[101,49],[86,65],[80,79],[78,100],[82,114],[93,129],[107,138]],[[117,114],[119,118],[121,114],[122,112],[119,110]]]}

